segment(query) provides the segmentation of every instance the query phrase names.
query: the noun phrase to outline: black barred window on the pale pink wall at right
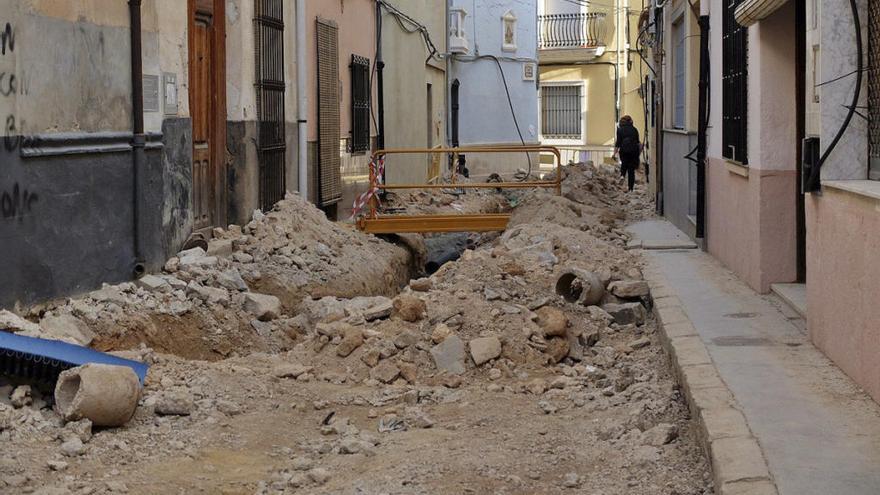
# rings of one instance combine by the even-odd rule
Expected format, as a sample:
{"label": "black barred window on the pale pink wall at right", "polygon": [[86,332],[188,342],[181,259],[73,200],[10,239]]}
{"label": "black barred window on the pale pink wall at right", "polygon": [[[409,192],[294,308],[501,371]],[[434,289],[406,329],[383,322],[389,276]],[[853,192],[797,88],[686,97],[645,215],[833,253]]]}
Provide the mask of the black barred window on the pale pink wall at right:
{"label": "black barred window on the pale pink wall at right", "polygon": [[743,0],[725,0],[723,14],[722,151],[725,158],[748,164],[748,29],[734,19],[734,10]]}

